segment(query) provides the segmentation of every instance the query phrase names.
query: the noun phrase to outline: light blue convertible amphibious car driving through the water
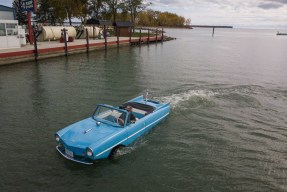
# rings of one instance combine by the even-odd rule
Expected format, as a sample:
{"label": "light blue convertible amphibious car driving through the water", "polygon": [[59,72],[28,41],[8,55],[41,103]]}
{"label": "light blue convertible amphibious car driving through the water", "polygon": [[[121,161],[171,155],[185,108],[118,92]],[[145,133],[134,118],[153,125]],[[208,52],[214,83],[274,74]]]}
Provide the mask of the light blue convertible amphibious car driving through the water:
{"label": "light blue convertible amphibious car driving through the water", "polygon": [[[132,107],[135,121],[130,121],[126,107]],[[120,107],[99,104],[92,117],[76,122],[55,134],[56,149],[65,158],[83,164],[112,157],[120,147],[128,146],[138,137],[166,118],[169,103],[136,97]]]}

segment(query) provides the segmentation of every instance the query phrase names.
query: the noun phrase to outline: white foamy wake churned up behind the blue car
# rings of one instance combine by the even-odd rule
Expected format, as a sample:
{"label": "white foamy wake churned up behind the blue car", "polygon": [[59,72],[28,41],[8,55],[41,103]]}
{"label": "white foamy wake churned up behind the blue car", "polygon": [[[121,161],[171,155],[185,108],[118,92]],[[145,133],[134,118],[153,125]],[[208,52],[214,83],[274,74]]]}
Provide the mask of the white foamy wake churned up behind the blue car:
{"label": "white foamy wake churned up behind the blue car", "polygon": [[170,103],[172,108],[177,107],[180,103],[190,100],[193,97],[208,99],[217,93],[208,90],[189,90],[183,93],[172,94],[171,96],[155,98],[161,102]]}

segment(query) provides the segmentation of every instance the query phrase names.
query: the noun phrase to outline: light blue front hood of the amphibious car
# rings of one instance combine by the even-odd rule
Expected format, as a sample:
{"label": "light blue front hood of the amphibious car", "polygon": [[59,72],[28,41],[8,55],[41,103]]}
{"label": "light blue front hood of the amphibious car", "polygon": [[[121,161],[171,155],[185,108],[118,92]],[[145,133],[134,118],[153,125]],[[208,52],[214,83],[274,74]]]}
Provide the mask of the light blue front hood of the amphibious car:
{"label": "light blue front hood of the amphibious car", "polygon": [[57,134],[65,144],[85,148],[105,140],[120,130],[119,127],[97,123],[94,119],[88,118],[66,127]]}

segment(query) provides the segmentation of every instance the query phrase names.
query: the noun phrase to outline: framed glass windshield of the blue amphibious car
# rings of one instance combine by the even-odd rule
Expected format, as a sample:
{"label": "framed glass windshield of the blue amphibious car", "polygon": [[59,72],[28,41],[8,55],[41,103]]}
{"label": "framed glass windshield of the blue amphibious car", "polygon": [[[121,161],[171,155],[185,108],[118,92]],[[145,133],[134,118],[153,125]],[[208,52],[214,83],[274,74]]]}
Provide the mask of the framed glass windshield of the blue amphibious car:
{"label": "framed glass windshield of the blue amphibious car", "polygon": [[[94,119],[104,120],[112,125],[123,126],[126,113],[118,109],[99,105],[93,115]],[[120,119],[120,120],[119,120]],[[122,119],[122,120],[121,120]]]}

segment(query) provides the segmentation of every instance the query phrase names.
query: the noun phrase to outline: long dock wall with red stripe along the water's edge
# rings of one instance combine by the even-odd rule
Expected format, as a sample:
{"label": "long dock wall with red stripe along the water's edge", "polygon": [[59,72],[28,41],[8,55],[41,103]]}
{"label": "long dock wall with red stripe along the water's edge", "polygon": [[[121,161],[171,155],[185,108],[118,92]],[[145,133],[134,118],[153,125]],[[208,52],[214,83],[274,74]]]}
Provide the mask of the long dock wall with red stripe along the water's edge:
{"label": "long dock wall with red stripe along the water's edge", "polygon": [[38,42],[21,48],[1,49],[0,65],[7,65],[25,61],[57,57],[61,55],[89,52],[96,49],[107,49],[120,46],[141,45],[163,41],[162,35],[150,37],[107,37],[107,39],[76,39],[73,42],[60,43],[59,41]]}

